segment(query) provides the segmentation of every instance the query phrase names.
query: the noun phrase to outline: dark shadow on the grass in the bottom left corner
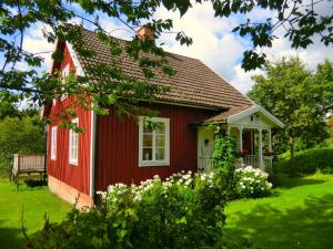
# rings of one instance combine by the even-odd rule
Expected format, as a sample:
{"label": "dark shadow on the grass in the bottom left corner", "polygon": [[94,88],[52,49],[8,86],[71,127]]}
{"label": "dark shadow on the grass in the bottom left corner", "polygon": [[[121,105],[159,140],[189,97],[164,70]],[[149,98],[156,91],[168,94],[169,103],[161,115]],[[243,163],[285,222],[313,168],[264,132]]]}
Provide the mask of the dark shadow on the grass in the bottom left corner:
{"label": "dark shadow on the grass in the bottom left corner", "polygon": [[24,242],[21,229],[6,227],[4,220],[0,220],[0,248],[26,248]]}

